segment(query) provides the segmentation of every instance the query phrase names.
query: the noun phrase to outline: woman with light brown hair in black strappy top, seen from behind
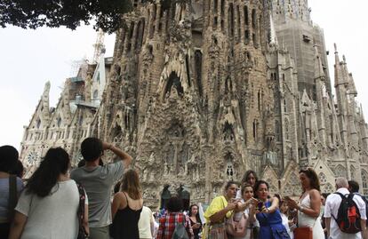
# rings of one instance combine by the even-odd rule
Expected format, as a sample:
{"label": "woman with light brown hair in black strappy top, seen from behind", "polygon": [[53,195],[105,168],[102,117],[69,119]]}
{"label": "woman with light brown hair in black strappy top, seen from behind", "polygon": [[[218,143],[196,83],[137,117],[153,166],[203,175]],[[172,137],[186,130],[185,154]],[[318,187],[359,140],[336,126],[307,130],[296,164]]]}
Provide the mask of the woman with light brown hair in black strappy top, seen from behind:
{"label": "woman with light brown hair in black strappy top, seen from behind", "polygon": [[114,195],[110,236],[114,239],[139,239],[138,221],[142,207],[140,178],[137,171],[128,170],[123,176],[121,192]]}

